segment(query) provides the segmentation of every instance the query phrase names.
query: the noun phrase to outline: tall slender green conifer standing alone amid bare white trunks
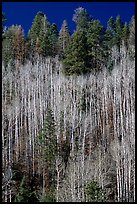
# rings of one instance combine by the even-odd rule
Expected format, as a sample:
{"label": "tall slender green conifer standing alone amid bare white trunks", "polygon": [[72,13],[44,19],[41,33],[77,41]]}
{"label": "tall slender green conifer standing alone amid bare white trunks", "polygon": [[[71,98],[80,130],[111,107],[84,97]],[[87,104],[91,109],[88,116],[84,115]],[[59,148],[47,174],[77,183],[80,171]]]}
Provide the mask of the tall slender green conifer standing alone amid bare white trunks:
{"label": "tall slender green conifer standing alone amid bare white trunks", "polygon": [[[55,135],[55,121],[52,110],[49,108],[45,118],[43,129],[38,135],[38,146],[41,148],[40,160],[45,171],[46,192],[54,191],[55,163],[57,155],[57,140]],[[52,179],[52,181],[50,181]],[[53,189],[52,189],[53,188]]]}

